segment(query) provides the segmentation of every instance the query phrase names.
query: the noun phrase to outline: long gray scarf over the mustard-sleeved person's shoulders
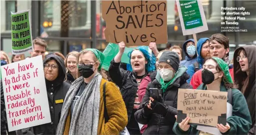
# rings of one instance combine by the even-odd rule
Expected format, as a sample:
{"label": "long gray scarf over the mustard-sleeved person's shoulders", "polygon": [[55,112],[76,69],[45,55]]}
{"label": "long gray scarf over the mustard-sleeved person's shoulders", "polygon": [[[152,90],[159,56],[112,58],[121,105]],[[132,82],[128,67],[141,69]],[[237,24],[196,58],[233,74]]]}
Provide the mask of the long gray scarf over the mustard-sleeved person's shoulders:
{"label": "long gray scarf over the mustard-sleeved person's shoulders", "polygon": [[[99,87],[101,79],[102,76],[99,73],[95,74],[77,99],[70,119],[70,129],[68,134],[97,134],[100,102]],[[73,98],[83,81],[82,76],[77,78],[67,91],[56,134],[63,134],[66,117]]]}

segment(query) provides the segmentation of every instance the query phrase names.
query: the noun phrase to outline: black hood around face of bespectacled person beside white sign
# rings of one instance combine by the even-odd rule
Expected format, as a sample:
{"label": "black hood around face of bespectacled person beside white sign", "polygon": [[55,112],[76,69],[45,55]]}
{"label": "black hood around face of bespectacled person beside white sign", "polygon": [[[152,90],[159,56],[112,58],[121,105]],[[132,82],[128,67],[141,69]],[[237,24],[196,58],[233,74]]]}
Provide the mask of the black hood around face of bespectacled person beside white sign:
{"label": "black hood around face of bespectacled person beside white sign", "polygon": [[55,55],[55,54],[49,54],[47,55],[44,60],[43,60],[43,64],[45,64],[47,61],[49,60],[55,60],[56,63],[58,64],[58,76],[55,80],[53,81],[49,81],[45,78],[45,82],[46,82],[46,86],[47,84],[49,83],[55,83],[55,84],[60,84],[64,81],[65,79],[65,64],[64,64],[64,60],[58,56],[58,55]]}

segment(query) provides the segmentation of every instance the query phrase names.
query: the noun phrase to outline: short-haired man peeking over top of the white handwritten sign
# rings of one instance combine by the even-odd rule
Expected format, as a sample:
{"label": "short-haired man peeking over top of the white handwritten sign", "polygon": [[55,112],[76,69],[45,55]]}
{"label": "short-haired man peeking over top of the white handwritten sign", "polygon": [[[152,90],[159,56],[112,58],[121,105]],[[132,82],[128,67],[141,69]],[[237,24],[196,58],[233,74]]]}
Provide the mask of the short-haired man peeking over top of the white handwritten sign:
{"label": "short-haired man peeking over top of the white handwritten sign", "polygon": [[29,53],[31,57],[42,55],[42,60],[43,60],[45,57],[46,48],[47,48],[47,43],[45,42],[45,40],[39,37],[36,37],[35,39],[33,39],[33,51]]}

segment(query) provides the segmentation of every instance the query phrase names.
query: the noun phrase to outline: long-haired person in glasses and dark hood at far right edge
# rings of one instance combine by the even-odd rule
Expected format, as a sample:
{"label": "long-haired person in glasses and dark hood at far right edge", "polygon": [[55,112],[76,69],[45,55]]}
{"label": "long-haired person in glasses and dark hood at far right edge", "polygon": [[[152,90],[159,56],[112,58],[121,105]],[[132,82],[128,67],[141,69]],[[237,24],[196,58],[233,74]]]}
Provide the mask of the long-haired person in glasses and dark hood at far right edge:
{"label": "long-haired person in glasses and dark hood at far right edge", "polygon": [[255,59],[256,46],[244,45],[234,51],[233,68],[234,81],[238,85],[238,89],[243,93],[248,104],[251,129],[248,134],[255,134]]}

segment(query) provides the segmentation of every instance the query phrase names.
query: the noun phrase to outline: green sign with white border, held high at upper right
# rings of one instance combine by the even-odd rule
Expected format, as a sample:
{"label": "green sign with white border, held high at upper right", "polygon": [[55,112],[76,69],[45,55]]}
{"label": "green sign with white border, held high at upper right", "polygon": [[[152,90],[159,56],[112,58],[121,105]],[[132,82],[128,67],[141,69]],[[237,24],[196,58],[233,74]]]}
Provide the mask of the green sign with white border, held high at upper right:
{"label": "green sign with white border, held high at upper right", "polygon": [[183,35],[208,30],[200,0],[176,0]]}

